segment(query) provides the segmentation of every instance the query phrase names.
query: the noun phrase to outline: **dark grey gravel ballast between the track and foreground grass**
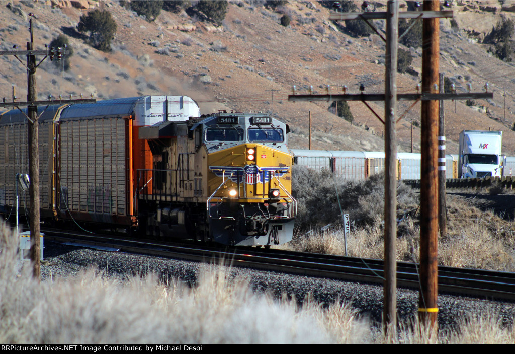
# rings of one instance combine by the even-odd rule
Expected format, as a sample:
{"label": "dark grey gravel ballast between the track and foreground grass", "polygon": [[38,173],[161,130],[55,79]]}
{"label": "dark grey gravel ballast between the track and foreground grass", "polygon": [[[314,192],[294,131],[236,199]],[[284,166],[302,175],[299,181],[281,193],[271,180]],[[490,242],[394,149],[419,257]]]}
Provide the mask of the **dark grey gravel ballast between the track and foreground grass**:
{"label": "dark grey gravel ballast between the track and foreground grass", "polygon": [[[154,273],[161,279],[180,279],[195,284],[201,263],[151,257],[122,251],[100,251],[78,246],[46,241],[44,261],[41,266],[43,281],[50,277],[66,277],[78,274],[90,267],[104,271],[109,277],[127,280],[132,276]],[[295,296],[302,301],[306,295],[319,302],[331,304],[346,301],[376,323],[381,322],[383,311],[383,287],[334,279],[281,274],[249,268],[233,267],[234,276],[248,279],[256,292],[267,292],[273,296]],[[398,289],[397,309],[400,319],[415,318],[418,309],[419,292]],[[438,323],[440,329],[455,324],[465,315],[494,313],[503,324],[512,325],[515,317],[515,303],[491,301],[455,295],[438,296]]]}

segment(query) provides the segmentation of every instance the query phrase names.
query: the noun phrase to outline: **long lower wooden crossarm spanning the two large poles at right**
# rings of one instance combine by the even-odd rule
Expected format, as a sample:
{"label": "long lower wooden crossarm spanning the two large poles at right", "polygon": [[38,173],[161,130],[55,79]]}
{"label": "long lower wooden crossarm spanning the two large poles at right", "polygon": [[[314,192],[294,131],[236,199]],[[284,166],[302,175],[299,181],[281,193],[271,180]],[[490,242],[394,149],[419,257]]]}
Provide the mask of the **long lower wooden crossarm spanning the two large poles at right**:
{"label": "long lower wooden crossarm spanning the two large poles at right", "polygon": [[[432,101],[443,99],[488,99],[493,98],[492,92],[467,93],[399,93],[400,101]],[[336,95],[288,95],[288,101],[384,101],[385,95],[381,93],[358,93]]]}

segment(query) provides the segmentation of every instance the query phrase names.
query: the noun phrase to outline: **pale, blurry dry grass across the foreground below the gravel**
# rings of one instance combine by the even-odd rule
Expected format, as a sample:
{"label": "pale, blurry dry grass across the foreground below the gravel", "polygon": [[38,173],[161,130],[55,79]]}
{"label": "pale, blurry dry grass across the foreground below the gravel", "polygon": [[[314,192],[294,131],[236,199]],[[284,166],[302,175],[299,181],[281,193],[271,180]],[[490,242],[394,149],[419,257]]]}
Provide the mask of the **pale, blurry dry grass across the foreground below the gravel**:
{"label": "pale, blurry dry grass across the foreground below the gravel", "polygon": [[33,281],[16,264],[13,234],[0,223],[1,343],[513,343],[493,313],[464,317],[455,330],[428,335],[401,323],[398,338],[377,332],[339,300],[299,307],[254,294],[230,267],[202,266],[197,286],[157,277],[108,279],[90,269],[76,277]]}

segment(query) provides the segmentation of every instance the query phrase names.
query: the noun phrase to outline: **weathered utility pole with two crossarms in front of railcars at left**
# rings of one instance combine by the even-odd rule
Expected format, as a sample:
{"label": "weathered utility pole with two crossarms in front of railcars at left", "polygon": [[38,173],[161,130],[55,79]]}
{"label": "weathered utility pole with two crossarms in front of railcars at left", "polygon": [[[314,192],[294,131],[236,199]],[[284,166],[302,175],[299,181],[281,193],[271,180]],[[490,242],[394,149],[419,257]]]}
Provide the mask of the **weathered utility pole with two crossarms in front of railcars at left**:
{"label": "weathered utility pole with two crossarms in front of railcars at left", "polygon": [[[54,101],[38,101],[36,94],[36,69],[38,66],[50,56],[50,60],[54,58],[55,50],[50,48],[49,50],[34,50],[34,37],[32,32],[32,17],[34,14],[30,12],[29,16],[29,31],[30,31],[30,42],[27,42],[27,50],[7,50],[0,52],[0,55],[14,55],[19,62],[23,64],[23,61],[18,58],[18,55],[27,56],[27,102],[16,103],[16,96],[13,86],[13,99],[12,103],[7,103],[4,99],[3,103],[0,103],[0,107],[16,107],[20,111],[19,106],[27,104],[27,113],[25,117],[28,122],[28,153],[29,153],[29,224],[30,224],[30,261],[32,263],[32,274],[38,279],[41,279],[41,262],[40,262],[40,201],[39,201],[39,139],[38,139],[38,105],[50,105],[55,103]],[[14,46],[15,48],[15,46]],[[58,60],[61,59],[62,55],[66,55],[65,50],[61,51],[58,48],[57,56]],[[36,55],[44,55],[45,57],[36,64]],[[94,102],[95,99],[75,99],[65,100],[72,102]],[[63,101],[60,101],[63,103]],[[23,111],[22,111],[23,113]],[[16,180],[15,183],[18,183]]]}

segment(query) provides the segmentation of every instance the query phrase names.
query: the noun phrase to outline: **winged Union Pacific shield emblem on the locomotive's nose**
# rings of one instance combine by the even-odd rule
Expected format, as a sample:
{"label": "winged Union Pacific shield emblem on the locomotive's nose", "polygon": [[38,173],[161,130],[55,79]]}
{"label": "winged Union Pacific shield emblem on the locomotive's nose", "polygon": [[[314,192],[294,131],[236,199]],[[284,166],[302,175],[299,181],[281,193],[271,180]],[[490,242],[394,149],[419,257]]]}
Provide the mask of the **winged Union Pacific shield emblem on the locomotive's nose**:
{"label": "winged Union Pacific shield emblem on the locomotive's nose", "polygon": [[256,184],[267,183],[272,177],[282,177],[289,171],[289,166],[285,167],[259,167],[256,165],[246,165],[245,167],[236,166],[209,166],[211,172],[217,177],[225,176],[235,183]]}

